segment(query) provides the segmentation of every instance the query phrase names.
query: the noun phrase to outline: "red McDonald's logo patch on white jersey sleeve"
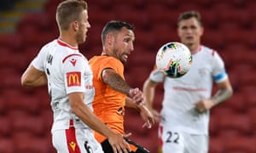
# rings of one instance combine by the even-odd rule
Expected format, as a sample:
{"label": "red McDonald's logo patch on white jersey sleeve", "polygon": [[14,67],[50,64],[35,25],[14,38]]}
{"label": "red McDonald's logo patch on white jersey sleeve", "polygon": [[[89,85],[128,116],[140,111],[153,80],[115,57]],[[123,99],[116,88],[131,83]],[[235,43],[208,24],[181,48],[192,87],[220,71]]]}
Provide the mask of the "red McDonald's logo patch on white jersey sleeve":
{"label": "red McDonald's logo patch on white jersey sleeve", "polygon": [[81,86],[81,72],[72,71],[67,73],[67,87]]}

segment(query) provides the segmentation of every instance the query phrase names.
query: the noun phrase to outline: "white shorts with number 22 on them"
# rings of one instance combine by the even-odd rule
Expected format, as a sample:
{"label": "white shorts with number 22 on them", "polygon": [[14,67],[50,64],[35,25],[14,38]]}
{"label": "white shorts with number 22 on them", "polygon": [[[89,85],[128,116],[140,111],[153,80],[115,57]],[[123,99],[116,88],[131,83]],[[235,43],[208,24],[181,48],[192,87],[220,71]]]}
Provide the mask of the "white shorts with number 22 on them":
{"label": "white shorts with number 22 on them", "polygon": [[207,153],[208,136],[183,133],[170,127],[159,127],[162,153]]}

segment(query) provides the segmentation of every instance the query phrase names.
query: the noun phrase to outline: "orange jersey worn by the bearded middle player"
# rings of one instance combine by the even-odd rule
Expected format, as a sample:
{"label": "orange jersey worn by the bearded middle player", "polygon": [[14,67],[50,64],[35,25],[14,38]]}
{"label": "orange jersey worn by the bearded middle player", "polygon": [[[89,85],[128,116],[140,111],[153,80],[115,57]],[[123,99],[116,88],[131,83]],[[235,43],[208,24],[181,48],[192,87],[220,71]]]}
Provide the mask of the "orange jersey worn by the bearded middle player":
{"label": "orange jersey worn by the bearded middle player", "polygon": [[[93,110],[102,122],[117,133],[124,133],[124,114],[126,95],[110,88],[102,81],[102,71],[106,68],[112,68],[123,79],[124,65],[111,56],[94,56],[89,60],[93,72],[93,85],[96,89],[95,98],[92,103]],[[95,134],[96,139],[101,143],[106,137],[99,133]]]}

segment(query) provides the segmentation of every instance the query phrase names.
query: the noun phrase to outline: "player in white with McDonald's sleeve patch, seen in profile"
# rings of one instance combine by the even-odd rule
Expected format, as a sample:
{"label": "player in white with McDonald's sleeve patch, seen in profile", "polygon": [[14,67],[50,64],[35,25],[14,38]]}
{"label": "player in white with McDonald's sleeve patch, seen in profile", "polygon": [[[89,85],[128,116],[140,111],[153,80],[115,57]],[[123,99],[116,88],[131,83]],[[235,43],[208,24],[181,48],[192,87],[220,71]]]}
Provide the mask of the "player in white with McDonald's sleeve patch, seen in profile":
{"label": "player in white with McDonald's sleeve patch, seen in profile", "polygon": [[102,153],[91,128],[108,138],[114,152],[127,153],[130,147],[123,135],[113,133],[92,111],[92,71],[79,52],[79,44],[85,42],[90,28],[87,10],[87,3],[82,0],[59,4],[56,20],[60,37],[41,48],[22,75],[21,84],[48,84],[54,112],[52,142],[58,153]]}

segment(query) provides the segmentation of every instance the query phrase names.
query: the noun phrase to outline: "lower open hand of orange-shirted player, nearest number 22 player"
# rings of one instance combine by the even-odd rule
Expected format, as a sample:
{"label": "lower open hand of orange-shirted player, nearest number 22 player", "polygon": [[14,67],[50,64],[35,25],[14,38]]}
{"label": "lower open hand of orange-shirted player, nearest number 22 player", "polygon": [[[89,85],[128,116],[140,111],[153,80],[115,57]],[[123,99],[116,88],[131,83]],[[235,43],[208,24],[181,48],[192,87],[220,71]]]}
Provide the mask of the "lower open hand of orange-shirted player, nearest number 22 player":
{"label": "lower open hand of orange-shirted player, nearest number 22 player", "polygon": [[153,114],[148,110],[146,105],[141,105],[139,108],[141,111],[140,114],[145,122],[143,127],[151,128],[155,123]]}

